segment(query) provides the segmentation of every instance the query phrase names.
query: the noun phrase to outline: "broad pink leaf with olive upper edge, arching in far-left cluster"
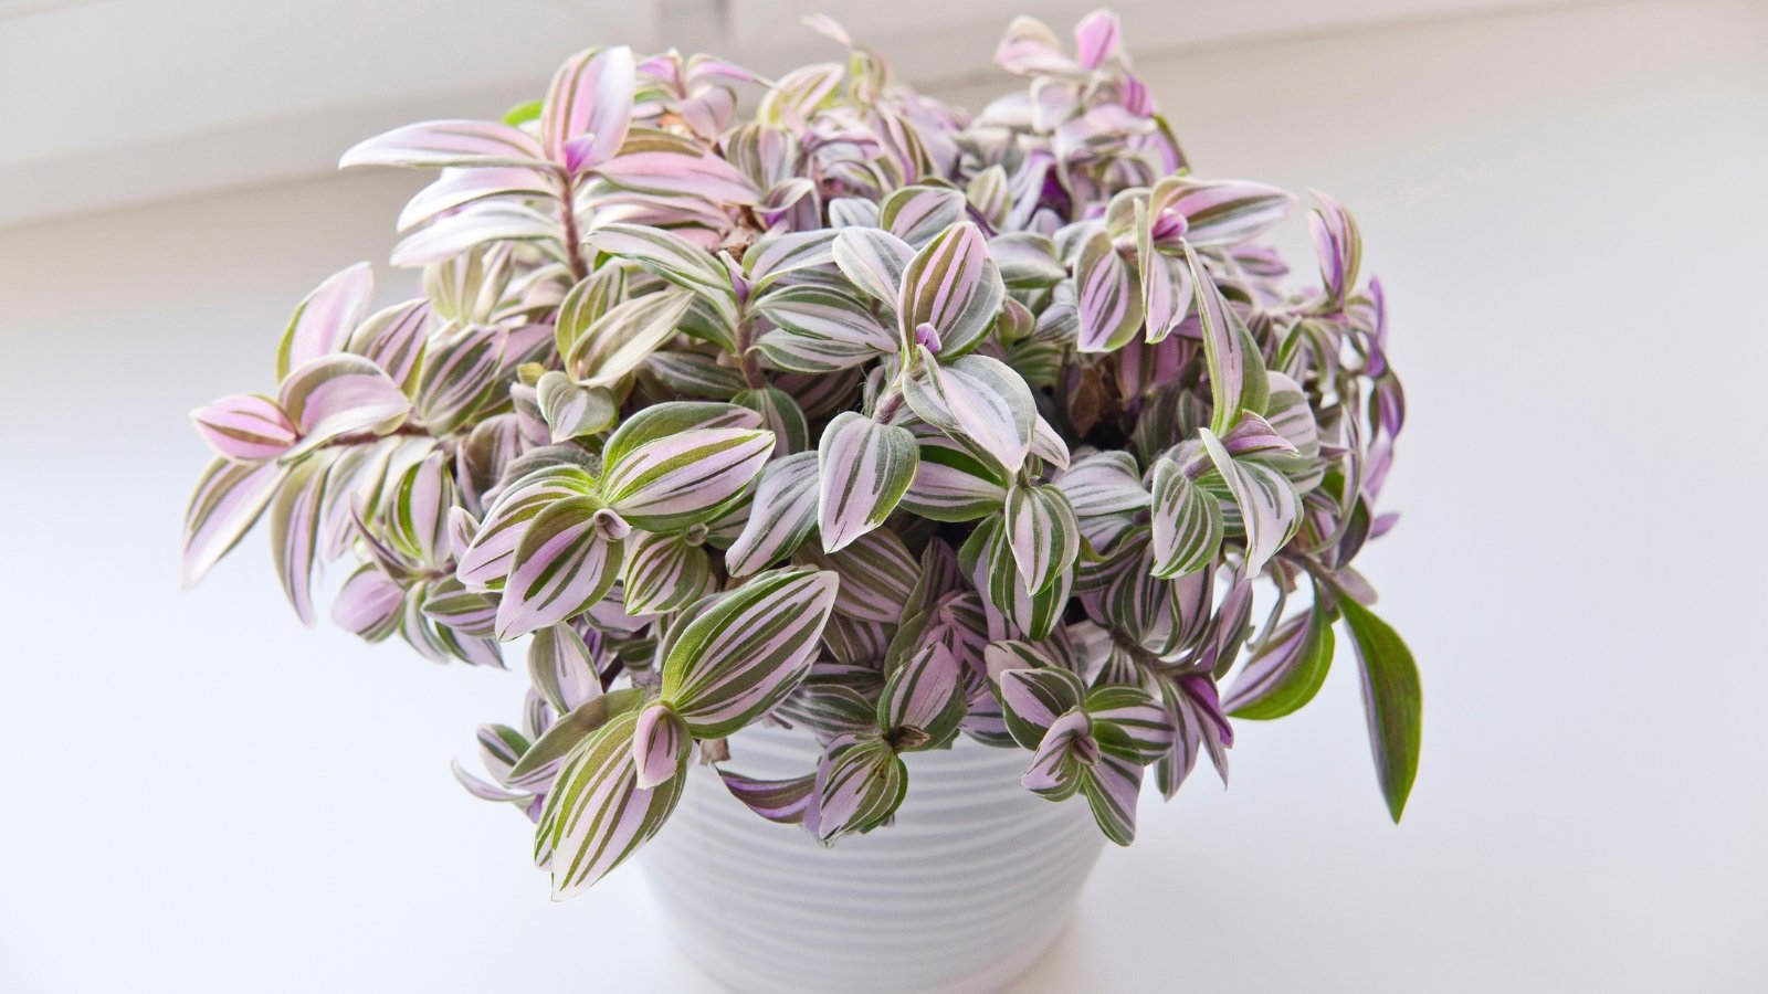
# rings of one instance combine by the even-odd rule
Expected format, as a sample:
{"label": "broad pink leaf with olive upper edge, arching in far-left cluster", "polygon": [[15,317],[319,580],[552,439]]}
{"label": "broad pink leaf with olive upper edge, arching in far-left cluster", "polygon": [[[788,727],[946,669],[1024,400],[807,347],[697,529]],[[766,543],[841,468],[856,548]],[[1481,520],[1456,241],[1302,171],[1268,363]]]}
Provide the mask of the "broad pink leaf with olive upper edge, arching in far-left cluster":
{"label": "broad pink leaf with olive upper edge, arching in far-left cluster", "polygon": [[339,435],[382,435],[400,426],[412,409],[400,384],[361,356],[320,356],[283,378],[278,403],[301,433],[283,458],[295,458]]}

